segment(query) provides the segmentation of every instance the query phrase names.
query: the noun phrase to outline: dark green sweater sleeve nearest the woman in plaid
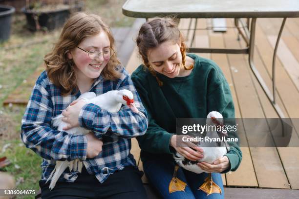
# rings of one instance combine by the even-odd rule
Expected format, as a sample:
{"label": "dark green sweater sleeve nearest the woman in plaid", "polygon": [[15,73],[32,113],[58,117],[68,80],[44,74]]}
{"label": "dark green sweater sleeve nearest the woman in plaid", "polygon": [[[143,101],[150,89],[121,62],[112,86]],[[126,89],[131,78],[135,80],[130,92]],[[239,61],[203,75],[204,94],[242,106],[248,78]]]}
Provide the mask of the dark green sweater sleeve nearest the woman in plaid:
{"label": "dark green sweater sleeve nearest the woman in plaid", "polygon": [[153,107],[151,107],[149,95],[149,88],[145,86],[144,80],[141,80],[134,73],[132,74],[132,81],[136,87],[137,92],[140,95],[141,101],[148,112],[149,126],[145,135],[137,138],[139,147],[143,151],[150,153],[171,153],[170,150],[170,139],[171,134],[165,129],[160,127],[156,121],[152,118]]}

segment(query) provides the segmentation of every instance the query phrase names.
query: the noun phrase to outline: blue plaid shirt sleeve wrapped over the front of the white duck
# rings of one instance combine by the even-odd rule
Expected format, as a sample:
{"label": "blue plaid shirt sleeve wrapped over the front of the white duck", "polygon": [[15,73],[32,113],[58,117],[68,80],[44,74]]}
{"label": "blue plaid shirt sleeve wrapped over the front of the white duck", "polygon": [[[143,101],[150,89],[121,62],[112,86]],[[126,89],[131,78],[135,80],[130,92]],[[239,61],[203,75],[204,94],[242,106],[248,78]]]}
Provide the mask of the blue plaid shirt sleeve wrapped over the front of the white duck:
{"label": "blue plaid shirt sleeve wrapped over the front of the white duck", "polygon": [[133,113],[128,106],[110,113],[95,104],[85,104],[79,114],[79,124],[92,130],[99,139],[105,134],[109,137],[133,138],[144,135],[148,127],[147,112],[127,72],[123,70],[117,90],[127,89],[133,93],[134,103],[139,113]]}

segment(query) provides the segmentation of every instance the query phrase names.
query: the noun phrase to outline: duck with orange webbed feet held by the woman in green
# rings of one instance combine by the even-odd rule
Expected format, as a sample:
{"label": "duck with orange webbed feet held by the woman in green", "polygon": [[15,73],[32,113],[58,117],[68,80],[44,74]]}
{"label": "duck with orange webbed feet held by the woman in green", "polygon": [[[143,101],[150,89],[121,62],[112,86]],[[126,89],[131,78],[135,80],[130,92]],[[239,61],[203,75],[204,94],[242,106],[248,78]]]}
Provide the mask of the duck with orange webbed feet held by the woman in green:
{"label": "duck with orange webbed feet held by the woman in green", "polygon": [[[208,126],[223,126],[223,117],[222,115],[217,111],[212,111],[207,116],[206,121]],[[207,137],[209,138],[220,138],[222,136],[228,136],[226,133],[223,132],[207,132]],[[186,159],[184,156],[182,156],[179,153],[176,153],[173,155],[173,158],[176,162],[176,166],[174,168],[174,173],[171,179],[171,183],[169,185],[169,192],[175,192],[175,191],[184,191],[187,184],[183,182],[182,180],[178,179],[176,177],[177,170],[180,167],[192,171],[196,174],[200,174],[203,172],[208,173],[205,170],[202,170],[197,163],[201,161],[208,162],[212,164],[214,160],[222,158],[227,152],[229,152],[230,148],[229,145],[226,142],[219,141],[219,142],[198,142],[197,145],[203,150],[204,158],[200,159],[199,161],[192,161],[189,159]],[[213,181],[211,173],[209,173],[209,177],[205,179],[205,182],[198,188],[208,195],[212,193],[222,193],[220,187]]]}

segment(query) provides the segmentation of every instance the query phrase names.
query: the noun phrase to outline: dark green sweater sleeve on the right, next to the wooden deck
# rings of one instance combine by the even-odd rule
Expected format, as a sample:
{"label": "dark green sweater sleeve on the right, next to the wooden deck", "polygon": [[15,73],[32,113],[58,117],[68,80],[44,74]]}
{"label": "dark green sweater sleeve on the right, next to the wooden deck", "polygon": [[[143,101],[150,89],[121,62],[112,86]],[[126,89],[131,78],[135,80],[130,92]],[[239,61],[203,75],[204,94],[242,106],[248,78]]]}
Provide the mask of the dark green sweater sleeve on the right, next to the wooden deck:
{"label": "dark green sweater sleeve on the right, next to the wooden deck", "polygon": [[[222,71],[218,68],[218,70],[212,70],[209,76],[209,84],[207,90],[207,111],[208,113],[211,111],[218,111],[222,114],[223,118],[235,119],[235,106],[232,98],[230,87],[222,74]],[[233,124],[230,124],[233,125]],[[237,138],[236,133],[230,133],[230,138]],[[230,145],[230,151],[226,154],[230,161],[230,168],[222,173],[226,173],[228,171],[235,171],[242,160],[242,152],[235,142],[228,142]]]}

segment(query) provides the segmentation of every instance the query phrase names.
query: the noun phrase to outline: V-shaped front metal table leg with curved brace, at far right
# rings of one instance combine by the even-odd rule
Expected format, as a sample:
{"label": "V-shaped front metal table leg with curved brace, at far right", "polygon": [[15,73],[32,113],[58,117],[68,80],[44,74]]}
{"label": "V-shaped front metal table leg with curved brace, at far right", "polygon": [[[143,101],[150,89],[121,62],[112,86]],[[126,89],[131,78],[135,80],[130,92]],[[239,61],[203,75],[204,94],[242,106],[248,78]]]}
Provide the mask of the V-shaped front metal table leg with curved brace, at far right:
{"label": "V-shaped front metal table leg with curved brace, at far right", "polygon": [[264,80],[261,78],[259,72],[256,69],[256,66],[254,64],[254,49],[255,49],[255,33],[256,33],[256,18],[253,18],[251,21],[251,31],[250,31],[250,41],[249,41],[249,65],[254,73],[258,83],[262,87],[263,91],[265,92],[268,100],[270,100],[273,108],[275,109],[276,113],[278,114],[279,118],[285,118],[283,112],[281,111],[280,107],[278,106],[276,102],[276,86],[275,86],[275,60],[276,60],[276,53],[277,53],[277,48],[278,48],[278,43],[280,40],[280,36],[285,24],[286,18],[283,19],[279,33],[278,33],[278,38],[276,40],[276,46],[274,49],[274,54],[273,54],[273,63],[272,63],[272,89],[273,89],[273,94],[271,94],[269,88],[267,87],[266,83]]}

